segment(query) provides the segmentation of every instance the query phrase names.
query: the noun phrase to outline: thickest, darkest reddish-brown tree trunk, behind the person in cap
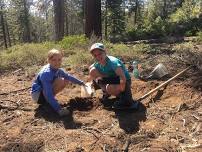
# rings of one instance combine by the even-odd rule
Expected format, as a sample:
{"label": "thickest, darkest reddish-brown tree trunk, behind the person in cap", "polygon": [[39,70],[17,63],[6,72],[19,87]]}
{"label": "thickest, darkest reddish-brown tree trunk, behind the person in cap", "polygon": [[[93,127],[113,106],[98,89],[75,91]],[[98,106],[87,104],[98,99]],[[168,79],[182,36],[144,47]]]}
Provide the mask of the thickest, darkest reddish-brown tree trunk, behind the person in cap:
{"label": "thickest, darkest reddish-brown tree trunk, behind the person in cap", "polygon": [[101,29],[101,0],[85,1],[85,34],[88,38],[92,34],[102,37]]}

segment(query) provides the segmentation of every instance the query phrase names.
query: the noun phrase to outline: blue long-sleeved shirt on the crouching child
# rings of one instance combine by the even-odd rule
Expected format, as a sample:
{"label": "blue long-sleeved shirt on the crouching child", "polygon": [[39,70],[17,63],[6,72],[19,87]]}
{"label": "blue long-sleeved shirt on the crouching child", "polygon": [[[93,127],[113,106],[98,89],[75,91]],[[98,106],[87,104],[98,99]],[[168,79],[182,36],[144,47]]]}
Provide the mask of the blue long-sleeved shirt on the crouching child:
{"label": "blue long-sleeved shirt on the crouching child", "polygon": [[72,83],[82,85],[83,81],[75,78],[74,76],[64,72],[62,69],[54,69],[50,64],[45,65],[38,73],[36,79],[32,84],[31,93],[43,92],[44,97],[52,106],[52,108],[58,112],[61,109],[60,104],[54,97],[53,82],[56,78],[64,78]]}

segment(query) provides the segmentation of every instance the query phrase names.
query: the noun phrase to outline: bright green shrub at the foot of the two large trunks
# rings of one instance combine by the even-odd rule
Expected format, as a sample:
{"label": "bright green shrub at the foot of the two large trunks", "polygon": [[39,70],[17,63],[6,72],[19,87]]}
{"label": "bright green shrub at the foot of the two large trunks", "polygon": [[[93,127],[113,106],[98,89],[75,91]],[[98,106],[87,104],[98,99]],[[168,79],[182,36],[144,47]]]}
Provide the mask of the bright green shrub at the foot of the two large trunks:
{"label": "bright green shrub at the foot of the two large trunks", "polygon": [[59,42],[63,49],[72,49],[75,47],[86,47],[88,39],[84,35],[66,36]]}

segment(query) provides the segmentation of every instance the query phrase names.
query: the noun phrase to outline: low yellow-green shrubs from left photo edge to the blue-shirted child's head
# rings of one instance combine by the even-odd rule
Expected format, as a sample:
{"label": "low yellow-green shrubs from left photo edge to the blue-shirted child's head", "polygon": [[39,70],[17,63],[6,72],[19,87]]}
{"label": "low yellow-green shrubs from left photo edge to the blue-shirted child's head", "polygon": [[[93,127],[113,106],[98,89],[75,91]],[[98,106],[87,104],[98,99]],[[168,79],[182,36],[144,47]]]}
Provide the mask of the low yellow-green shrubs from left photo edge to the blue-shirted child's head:
{"label": "low yellow-green shrubs from left photo edge to the blue-shirted child's head", "polygon": [[43,44],[16,45],[0,53],[0,69],[9,70],[32,65],[42,65],[46,61],[48,49]]}

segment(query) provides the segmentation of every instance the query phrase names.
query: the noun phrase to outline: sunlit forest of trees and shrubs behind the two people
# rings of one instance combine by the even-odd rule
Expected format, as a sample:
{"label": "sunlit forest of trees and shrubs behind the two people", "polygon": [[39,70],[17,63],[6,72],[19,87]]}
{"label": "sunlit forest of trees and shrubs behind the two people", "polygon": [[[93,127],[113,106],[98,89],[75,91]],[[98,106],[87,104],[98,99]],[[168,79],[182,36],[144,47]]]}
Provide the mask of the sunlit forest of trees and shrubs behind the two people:
{"label": "sunlit forest of trees and shrubs behind the two people", "polygon": [[202,39],[201,0],[0,0],[0,6],[1,71],[41,65],[52,47],[82,64],[98,40],[112,54],[133,56],[157,50],[145,43],[128,50],[128,42]]}

